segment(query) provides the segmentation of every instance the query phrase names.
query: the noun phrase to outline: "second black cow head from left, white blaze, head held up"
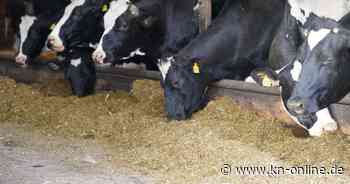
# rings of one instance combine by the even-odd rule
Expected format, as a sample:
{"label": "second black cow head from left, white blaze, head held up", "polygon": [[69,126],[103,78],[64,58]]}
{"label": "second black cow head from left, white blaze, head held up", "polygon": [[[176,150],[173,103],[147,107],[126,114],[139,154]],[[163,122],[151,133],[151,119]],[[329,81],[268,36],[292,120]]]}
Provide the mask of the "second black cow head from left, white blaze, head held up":
{"label": "second black cow head from left, white blaze, head held up", "polygon": [[[48,38],[48,47],[57,52],[98,43],[103,33],[103,16],[112,0],[71,0]],[[69,49],[67,49],[69,50]]]}

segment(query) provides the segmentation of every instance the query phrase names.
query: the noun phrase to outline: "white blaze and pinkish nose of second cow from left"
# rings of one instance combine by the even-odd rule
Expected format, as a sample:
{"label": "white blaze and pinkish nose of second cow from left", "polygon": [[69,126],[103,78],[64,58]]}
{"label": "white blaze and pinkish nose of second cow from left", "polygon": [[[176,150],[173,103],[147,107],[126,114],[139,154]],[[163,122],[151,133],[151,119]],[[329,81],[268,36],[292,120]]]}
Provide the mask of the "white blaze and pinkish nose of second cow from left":
{"label": "white blaze and pinkish nose of second cow from left", "polygon": [[62,18],[58,21],[55,28],[52,30],[52,32],[49,35],[49,40],[52,40],[51,44],[53,45],[53,47],[57,47],[57,48],[63,47],[63,41],[60,38],[61,28],[67,22],[67,20],[73,13],[74,9],[78,6],[83,5],[84,3],[85,3],[85,0],[71,0],[71,3],[68,6],[66,6]]}

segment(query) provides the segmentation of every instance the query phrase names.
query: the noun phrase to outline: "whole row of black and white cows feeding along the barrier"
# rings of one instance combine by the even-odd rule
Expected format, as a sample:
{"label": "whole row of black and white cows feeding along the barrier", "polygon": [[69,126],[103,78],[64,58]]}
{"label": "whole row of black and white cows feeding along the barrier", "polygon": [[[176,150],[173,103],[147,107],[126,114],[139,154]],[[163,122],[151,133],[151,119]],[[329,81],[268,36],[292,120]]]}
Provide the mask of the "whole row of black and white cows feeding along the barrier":
{"label": "whole row of black and white cows feeding along the barrier", "polygon": [[348,0],[11,0],[16,63],[59,53],[75,95],[93,93],[96,66],[143,63],[162,74],[165,110],[189,118],[212,82],[279,87],[286,112],[312,136],[334,131],[329,105],[350,91]]}

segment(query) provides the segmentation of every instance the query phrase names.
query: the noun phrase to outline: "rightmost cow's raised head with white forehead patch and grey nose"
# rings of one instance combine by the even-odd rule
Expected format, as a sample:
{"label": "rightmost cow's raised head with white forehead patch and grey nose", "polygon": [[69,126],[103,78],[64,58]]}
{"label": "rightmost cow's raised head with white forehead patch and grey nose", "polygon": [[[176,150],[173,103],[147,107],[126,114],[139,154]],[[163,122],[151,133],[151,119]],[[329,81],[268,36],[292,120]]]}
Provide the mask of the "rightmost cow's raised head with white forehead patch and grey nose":
{"label": "rightmost cow's raised head with white forehead patch and grey nose", "polygon": [[350,30],[339,24],[310,30],[302,70],[288,107],[298,115],[316,113],[350,90]]}

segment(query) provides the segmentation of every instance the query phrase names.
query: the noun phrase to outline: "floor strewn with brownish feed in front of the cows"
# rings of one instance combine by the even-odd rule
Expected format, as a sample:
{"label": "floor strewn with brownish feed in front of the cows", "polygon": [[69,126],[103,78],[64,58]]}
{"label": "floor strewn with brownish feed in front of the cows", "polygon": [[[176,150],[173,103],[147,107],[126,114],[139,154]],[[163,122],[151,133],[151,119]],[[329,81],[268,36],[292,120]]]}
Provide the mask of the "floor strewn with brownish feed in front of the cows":
{"label": "floor strewn with brownish feed in front of the cows", "polygon": [[[218,98],[168,122],[159,82],[69,96],[67,84],[0,79],[0,184],[349,183],[350,137],[303,131]],[[225,176],[224,164],[338,166],[342,176]]]}

